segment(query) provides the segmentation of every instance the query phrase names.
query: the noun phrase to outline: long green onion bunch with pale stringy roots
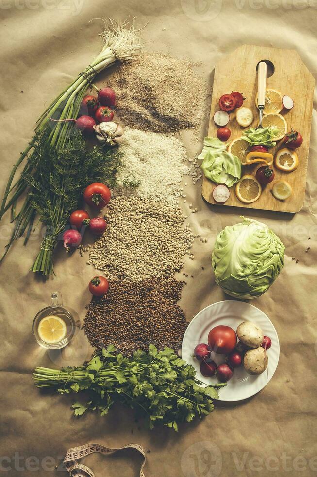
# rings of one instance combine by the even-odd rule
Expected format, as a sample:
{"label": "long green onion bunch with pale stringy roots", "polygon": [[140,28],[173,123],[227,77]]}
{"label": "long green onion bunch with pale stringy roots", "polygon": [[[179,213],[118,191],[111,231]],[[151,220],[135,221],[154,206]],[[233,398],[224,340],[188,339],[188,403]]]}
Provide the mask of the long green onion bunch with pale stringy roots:
{"label": "long green onion bunch with pale stringy roots", "polygon": [[[37,215],[28,194],[30,184],[25,180],[25,177],[29,174],[36,175],[36,167],[34,169],[33,162],[29,161],[30,154],[32,155],[33,153],[36,138],[39,134],[45,133],[47,134],[48,143],[51,146],[62,147],[69,138],[69,130],[72,125],[67,121],[59,121],[77,117],[88,87],[95,87],[93,81],[98,73],[110,67],[116,61],[128,62],[133,60],[136,53],[141,48],[134,24],[128,27],[127,22],[120,24],[112,20],[109,21],[110,23],[108,25],[105,24],[105,30],[100,34],[100,37],[104,42],[100,54],[69,86],[67,86],[63,92],[59,94],[59,96],[57,96],[57,98],[38,118],[34,129],[34,137],[29,142],[26,149],[21,153],[16,164],[12,168],[0,206],[0,221],[4,214],[11,209],[11,222],[15,223],[15,228],[9,243],[5,247],[6,250],[0,262],[9,251],[13,241],[22,237],[25,232],[26,236],[24,244],[27,243]],[[51,121],[51,119],[54,121]],[[25,160],[26,164],[24,165],[22,173],[15,181],[17,170]],[[17,213],[17,201],[23,194],[27,195]],[[56,240],[54,242],[56,244]],[[50,254],[50,252],[52,252],[51,249],[52,247],[54,248],[55,244],[53,245],[50,234],[48,233],[48,235],[44,237],[41,246],[43,254],[45,255],[45,252]],[[44,266],[41,257],[37,257],[31,270],[33,270],[33,272],[43,273],[45,272],[43,268]]]}

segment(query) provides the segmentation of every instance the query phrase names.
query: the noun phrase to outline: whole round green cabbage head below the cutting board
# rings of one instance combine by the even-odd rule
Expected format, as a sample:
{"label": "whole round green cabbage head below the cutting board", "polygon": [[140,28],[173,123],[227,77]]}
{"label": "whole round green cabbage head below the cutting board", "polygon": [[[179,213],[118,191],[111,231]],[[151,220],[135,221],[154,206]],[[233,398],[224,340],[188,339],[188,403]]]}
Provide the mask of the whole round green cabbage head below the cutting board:
{"label": "whole round green cabbage head below the cutting board", "polygon": [[219,233],[212,264],[217,284],[227,294],[250,300],[266,292],[278,277],[285,247],[264,223],[242,219]]}

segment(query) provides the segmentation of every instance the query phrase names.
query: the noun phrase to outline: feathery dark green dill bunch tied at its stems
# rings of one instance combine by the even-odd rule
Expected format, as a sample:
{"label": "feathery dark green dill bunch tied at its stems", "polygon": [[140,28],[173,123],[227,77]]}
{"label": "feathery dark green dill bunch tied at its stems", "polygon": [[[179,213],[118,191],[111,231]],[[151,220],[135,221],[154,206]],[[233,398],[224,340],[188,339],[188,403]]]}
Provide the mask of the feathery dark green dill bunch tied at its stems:
{"label": "feathery dark green dill bunch tied at its stems", "polygon": [[[91,147],[77,131],[63,146],[52,146],[46,133],[37,135],[33,143],[27,158],[33,172],[24,172],[23,180],[30,186],[29,204],[47,230],[31,270],[49,276],[54,273],[53,251],[69,215],[80,205],[83,190],[93,182],[115,188],[124,161],[119,149]],[[125,179],[124,185],[135,188],[138,182]]]}

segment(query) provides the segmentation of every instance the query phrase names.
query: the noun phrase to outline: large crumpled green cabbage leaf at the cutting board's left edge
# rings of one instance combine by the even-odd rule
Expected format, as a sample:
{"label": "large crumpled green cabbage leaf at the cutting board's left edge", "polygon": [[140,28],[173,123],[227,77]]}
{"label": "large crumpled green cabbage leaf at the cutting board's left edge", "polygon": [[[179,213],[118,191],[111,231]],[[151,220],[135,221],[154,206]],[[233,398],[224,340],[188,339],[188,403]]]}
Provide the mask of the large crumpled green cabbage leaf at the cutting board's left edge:
{"label": "large crumpled green cabbage leaf at the cutting board's left edge", "polygon": [[238,157],[226,151],[226,144],[215,137],[205,137],[198,159],[201,169],[211,181],[231,187],[241,178],[242,165]]}

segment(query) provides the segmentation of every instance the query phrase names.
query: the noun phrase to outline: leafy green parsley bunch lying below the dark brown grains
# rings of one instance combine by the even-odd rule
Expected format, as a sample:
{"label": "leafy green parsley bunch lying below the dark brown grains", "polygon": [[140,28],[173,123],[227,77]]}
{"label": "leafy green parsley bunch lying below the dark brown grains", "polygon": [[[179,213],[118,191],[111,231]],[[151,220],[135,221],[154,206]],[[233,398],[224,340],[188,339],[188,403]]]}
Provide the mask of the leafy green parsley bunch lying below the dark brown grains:
{"label": "leafy green parsley bunch lying below the dark brown grains", "polygon": [[37,367],[33,379],[37,387],[57,387],[57,392],[87,393],[89,401],[72,405],[76,416],[87,410],[101,415],[118,400],[141,410],[150,429],[156,423],[178,430],[181,422],[202,418],[214,409],[212,399],[219,399],[217,389],[226,384],[201,387],[193,366],[175,355],[170,348],[149,352],[138,350],[132,358],[115,354],[110,345],[81,367],[62,370]]}

